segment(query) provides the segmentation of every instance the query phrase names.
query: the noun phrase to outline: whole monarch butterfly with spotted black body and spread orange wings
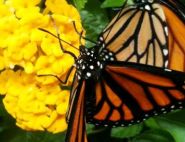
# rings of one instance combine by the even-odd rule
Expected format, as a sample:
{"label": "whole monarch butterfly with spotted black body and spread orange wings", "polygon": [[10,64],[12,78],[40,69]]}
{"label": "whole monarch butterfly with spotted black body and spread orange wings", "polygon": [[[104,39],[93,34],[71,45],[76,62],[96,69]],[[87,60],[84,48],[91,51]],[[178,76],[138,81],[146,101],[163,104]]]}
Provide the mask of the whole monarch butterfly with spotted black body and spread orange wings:
{"label": "whole monarch butterfly with spotted black body and spread orange wings", "polygon": [[80,48],[66,142],[87,142],[85,123],[128,126],[184,108],[185,7],[136,0],[122,8],[96,46]]}

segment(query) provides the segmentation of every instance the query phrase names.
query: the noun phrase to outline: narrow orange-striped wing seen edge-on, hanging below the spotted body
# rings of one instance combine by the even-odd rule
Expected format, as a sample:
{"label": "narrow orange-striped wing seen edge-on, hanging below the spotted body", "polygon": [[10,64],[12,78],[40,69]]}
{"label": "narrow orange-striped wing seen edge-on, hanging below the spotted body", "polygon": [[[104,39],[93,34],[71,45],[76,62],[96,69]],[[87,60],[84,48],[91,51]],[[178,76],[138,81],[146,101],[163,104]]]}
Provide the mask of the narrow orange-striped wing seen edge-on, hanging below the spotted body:
{"label": "narrow orange-striped wing seen edge-on, hanging below the spotted body", "polygon": [[[76,86],[73,86],[76,87]],[[71,104],[68,111],[68,129],[66,142],[87,142],[85,125],[85,81],[80,81],[72,92]]]}

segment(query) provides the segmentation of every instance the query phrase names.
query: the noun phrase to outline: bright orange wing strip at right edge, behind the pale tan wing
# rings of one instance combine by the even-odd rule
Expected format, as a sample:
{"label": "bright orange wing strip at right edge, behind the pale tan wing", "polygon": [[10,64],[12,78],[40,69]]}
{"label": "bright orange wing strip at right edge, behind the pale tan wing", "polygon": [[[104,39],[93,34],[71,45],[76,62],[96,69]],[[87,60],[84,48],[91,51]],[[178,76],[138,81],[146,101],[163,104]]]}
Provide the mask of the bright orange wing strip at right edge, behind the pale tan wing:
{"label": "bright orange wing strip at right edge, behind the pale tan wing", "polygon": [[[163,2],[163,1],[162,1]],[[164,1],[162,9],[165,13],[169,29],[169,65],[168,68],[185,71],[185,8],[178,1]]]}

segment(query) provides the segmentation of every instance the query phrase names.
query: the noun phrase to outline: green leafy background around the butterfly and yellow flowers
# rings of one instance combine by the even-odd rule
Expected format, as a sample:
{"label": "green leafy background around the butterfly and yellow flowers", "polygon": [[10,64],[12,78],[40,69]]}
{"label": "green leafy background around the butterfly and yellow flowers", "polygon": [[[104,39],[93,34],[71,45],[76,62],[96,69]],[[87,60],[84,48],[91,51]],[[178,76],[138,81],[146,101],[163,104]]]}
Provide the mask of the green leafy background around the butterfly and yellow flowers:
{"label": "green leafy background around the butterfly and yellow flowers", "polygon": [[[86,36],[94,41],[125,0],[70,0],[81,13]],[[185,0],[181,0],[185,3]],[[132,0],[128,0],[132,3]],[[91,46],[87,43],[87,46]],[[98,128],[88,125],[89,142],[185,142],[185,110],[153,117],[130,127]],[[0,142],[64,142],[65,132],[26,132],[15,126],[0,96]]]}

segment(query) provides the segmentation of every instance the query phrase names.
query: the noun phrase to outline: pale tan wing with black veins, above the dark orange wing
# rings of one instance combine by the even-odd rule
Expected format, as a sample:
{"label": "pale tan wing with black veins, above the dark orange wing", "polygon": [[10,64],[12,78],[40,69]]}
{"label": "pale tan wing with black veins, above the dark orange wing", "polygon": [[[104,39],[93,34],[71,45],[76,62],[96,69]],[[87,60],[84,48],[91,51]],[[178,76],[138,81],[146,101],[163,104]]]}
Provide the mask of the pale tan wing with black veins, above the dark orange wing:
{"label": "pale tan wing with black veins, above the dark orange wing", "polygon": [[123,8],[99,39],[102,47],[112,51],[119,61],[167,67],[166,20],[156,2]]}

